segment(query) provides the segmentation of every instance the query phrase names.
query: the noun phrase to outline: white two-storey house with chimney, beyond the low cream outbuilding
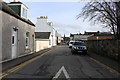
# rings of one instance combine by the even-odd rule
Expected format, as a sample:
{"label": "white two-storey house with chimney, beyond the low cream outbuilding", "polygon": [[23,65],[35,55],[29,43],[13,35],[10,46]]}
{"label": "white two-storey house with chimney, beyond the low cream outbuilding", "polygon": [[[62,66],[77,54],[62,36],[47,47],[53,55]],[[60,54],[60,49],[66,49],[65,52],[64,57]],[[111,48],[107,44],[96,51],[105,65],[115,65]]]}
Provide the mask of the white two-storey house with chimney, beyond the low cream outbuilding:
{"label": "white two-storey house with chimney, beyond the low cream outbuilding", "polygon": [[58,35],[57,31],[53,28],[52,22],[47,22],[47,19],[47,16],[40,16],[37,18],[35,32],[50,32],[50,46],[56,46],[58,43],[58,36],[60,35]]}

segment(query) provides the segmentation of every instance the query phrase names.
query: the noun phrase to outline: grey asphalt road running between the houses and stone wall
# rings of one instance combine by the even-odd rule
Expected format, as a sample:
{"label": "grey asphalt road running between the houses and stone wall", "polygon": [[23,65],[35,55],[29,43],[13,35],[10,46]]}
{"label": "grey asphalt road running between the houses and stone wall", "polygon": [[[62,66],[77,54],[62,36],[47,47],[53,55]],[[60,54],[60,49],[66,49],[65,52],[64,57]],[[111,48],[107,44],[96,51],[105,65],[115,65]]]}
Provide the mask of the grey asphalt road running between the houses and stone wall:
{"label": "grey asphalt road running between the houses and stone wall", "polygon": [[58,80],[111,79],[118,76],[92,60],[88,55],[73,55],[67,45],[58,45],[45,55],[15,70],[6,78],[43,78]]}

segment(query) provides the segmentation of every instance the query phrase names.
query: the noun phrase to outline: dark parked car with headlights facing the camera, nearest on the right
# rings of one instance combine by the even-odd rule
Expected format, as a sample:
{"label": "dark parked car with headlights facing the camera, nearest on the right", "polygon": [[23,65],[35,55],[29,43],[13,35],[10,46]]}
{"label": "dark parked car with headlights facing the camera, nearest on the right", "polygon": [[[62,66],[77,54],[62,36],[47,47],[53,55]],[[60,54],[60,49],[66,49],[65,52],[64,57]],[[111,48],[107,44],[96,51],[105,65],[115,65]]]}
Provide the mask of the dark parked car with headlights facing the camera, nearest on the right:
{"label": "dark parked car with headlights facing the camera, nearest on the right", "polygon": [[84,42],[76,41],[72,44],[72,53],[87,53],[87,46]]}

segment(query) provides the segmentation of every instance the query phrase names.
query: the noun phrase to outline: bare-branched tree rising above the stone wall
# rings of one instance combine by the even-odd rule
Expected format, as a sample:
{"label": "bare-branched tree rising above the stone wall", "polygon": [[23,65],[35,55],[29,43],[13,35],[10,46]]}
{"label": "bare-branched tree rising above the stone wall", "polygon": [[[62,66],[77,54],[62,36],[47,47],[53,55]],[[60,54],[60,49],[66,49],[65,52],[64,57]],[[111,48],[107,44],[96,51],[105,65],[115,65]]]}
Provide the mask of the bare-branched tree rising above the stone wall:
{"label": "bare-branched tree rising above the stone wall", "polygon": [[77,19],[84,17],[84,20],[102,23],[110,28],[117,39],[120,39],[120,1],[119,2],[89,2],[84,6]]}

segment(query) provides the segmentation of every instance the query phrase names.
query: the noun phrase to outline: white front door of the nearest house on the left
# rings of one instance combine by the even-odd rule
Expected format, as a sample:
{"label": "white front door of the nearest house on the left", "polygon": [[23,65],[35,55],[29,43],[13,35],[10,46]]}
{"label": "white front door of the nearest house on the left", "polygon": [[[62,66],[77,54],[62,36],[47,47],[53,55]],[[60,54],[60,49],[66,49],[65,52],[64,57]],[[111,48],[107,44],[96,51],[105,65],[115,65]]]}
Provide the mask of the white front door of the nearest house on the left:
{"label": "white front door of the nearest house on the left", "polygon": [[17,57],[17,31],[12,30],[12,59]]}

